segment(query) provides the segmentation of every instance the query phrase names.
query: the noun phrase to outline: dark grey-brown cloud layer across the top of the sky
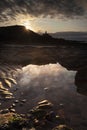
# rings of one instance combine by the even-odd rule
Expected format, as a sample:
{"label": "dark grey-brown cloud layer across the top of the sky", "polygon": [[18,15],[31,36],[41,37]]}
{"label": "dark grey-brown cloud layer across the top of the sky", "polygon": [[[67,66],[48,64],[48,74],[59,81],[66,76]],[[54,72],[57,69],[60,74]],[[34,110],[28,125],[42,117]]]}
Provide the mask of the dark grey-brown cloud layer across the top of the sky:
{"label": "dark grey-brown cloud layer across the top of the sky", "polygon": [[0,21],[15,19],[18,14],[35,17],[86,16],[87,0],[2,0]]}

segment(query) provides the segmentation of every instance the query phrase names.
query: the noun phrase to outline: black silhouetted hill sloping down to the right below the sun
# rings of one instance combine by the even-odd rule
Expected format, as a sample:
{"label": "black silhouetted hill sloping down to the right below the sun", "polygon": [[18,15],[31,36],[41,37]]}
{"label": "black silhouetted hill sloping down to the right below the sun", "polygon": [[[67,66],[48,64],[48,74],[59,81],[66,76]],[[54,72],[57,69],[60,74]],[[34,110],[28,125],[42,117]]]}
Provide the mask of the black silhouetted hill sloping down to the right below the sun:
{"label": "black silhouetted hill sloping down to the right below the sun", "polygon": [[79,41],[65,40],[63,38],[53,38],[48,33],[40,35],[31,30],[26,30],[25,27],[21,25],[0,27],[0,45],[7,43],[33,45],[76,45],[77,43],[83,44]]}

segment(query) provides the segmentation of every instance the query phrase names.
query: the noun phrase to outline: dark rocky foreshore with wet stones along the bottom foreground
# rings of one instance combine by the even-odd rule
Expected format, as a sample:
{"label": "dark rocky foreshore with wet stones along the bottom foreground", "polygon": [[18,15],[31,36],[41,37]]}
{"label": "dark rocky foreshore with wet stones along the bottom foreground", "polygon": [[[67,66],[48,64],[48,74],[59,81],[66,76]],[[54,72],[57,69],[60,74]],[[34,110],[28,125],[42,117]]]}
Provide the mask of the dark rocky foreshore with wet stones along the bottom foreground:
{"label": "dark rocky foreshore with wet stones along the bottom foreground", "polygon": [[68,127],[62,110],[58,113],[48,100],[38,102],[27,114],[17,114],[15,109],[0,111],[0,130],[73,130]]}

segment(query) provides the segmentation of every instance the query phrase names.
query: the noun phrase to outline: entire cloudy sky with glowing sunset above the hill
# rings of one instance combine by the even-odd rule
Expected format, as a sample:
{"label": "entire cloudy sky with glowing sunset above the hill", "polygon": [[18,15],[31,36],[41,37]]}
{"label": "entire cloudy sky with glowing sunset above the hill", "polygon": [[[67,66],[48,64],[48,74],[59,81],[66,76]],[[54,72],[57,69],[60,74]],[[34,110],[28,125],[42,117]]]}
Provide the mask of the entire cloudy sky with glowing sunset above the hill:
{"label": "entire cloudy sky with glowing sunset above the hill", "polygon": [[87,0],[0,0],[0,26],[36,32],[87,31]]}

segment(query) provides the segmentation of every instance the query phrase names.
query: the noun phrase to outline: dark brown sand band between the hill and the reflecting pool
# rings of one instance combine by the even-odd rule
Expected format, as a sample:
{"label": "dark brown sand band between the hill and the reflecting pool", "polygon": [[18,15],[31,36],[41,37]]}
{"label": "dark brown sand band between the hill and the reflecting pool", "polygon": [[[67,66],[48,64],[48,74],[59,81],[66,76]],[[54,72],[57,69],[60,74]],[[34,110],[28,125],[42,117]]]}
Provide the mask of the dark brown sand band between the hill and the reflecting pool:
{"label": "dark brown sand band between the hill and the reflecting pool", "polygon": [[[75,84],[78,87],[77,91],[86,95],[87,46],[6,45],[0,48],[1,66],[7,63],[17,68],[17,66],[26,66],[28,64],[44,65],[57,62],[69,70],[78,71],[75,78]],[[83,90],[81,91],[83,85],[85,93]]]}

